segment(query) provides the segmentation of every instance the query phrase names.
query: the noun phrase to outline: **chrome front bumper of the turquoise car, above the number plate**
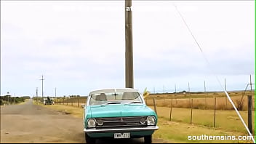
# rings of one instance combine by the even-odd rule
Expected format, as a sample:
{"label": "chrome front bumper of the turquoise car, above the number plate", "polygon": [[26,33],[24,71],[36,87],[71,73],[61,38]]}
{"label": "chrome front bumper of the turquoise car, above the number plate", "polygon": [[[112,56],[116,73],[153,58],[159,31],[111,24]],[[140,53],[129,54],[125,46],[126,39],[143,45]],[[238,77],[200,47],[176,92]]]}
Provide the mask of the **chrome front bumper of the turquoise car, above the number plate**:
{"label": "chrome front bumper of the turquoise car, above the number plate", "polygon": [[84,129],[86,133],[100,133],[100,132],[137,132],[137,131],[154,131],[159,129],[158,126],[148,127],[124,127],[124,128],[108,128],[108,129]]}

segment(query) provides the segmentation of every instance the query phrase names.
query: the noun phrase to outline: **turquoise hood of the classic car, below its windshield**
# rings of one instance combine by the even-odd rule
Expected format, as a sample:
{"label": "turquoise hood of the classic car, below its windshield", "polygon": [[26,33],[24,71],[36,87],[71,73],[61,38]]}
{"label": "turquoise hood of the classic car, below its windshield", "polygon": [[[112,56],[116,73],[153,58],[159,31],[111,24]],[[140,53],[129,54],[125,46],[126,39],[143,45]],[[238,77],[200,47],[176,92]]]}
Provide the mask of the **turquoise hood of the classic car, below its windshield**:
{"label": "turquoise hood of the classic car, below its windshield", "polygon": [[92,118],[120,116],[155,116],[155,112],[144,104],[92,105]]}

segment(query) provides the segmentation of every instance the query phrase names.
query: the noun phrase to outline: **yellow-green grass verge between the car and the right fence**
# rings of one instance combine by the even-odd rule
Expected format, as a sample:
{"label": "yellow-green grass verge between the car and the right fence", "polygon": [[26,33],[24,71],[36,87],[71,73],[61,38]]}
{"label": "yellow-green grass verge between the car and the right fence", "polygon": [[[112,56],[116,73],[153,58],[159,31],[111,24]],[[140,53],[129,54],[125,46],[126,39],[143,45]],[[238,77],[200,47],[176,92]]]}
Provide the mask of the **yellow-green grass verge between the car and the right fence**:
{"label": "yellow-green grass verge between the car and the right fence", "polygon": [[198,125],[167,121],[159,119],[159,130],[153,137],[168,140],[171,143],[252,143],[251,140],[188,140],[188,136],[239,136],[244,135],[240,132],[226,132],[221,129],[213,129]]}

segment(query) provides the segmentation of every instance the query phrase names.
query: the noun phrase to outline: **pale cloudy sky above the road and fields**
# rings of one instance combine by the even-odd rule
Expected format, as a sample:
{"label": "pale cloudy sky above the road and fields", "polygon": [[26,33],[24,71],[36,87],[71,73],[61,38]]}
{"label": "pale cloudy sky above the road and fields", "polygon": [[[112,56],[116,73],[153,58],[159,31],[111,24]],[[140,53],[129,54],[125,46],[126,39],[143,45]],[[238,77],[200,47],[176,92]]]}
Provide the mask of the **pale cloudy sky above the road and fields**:
{"label": "pale cloudy sky above the road and fields", "polygon": [[[132,12],[136,89],[222,90],[214,73],[228,90],[255,83],[254,1],[132,1]],[[124,50],[124,1],[1,1],[1,95],[41,95],[42,74],[44,95],[125,87]]]}

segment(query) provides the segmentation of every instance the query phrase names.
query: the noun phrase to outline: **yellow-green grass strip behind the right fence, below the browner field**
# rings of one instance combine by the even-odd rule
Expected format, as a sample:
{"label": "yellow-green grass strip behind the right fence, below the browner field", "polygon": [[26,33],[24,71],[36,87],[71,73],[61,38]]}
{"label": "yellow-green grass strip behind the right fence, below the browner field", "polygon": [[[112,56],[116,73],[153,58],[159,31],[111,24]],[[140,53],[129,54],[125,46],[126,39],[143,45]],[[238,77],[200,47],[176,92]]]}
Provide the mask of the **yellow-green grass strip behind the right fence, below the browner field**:
{"label": "yellow-green grass strip behind the right fence, below the browner field", "polygon": [[[153,109],[153,107],[151,107]],[[170,108],[156,107],[158,116],[169,120]],[[239,111],[244,121],[247,124],[247,111]],[[252,113],[254,119],[254,114]],[[172,108],[172,121],[189,123],[191,120],[190,108]],[[254,120],[253,120],[254,121]],[[213,110],[199,110],[193,109],[192,123],[206,127],[213,127],[214,111]],[[216,111],[216,129],[223,129],[225,131],[234,131],[247,134],[244,125],[242,124],[236,111]]]}

